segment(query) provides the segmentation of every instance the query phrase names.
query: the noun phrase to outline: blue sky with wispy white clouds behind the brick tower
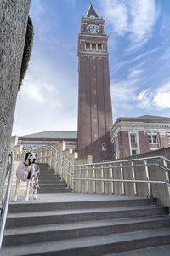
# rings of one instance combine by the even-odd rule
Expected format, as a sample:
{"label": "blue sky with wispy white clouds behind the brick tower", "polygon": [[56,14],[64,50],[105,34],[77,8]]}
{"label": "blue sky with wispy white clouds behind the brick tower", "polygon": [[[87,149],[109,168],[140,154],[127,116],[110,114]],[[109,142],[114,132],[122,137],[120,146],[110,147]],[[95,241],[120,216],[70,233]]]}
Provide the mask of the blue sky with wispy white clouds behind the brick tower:
{"label": "blue sky with wispy white clouds behind the brick tower", "polygon": [[[77,40],[89,0],[31,0],[34,42],[13,135],[77,131]],[[109,36],[113,122],[170,117],[170,1],[94,0]]]}

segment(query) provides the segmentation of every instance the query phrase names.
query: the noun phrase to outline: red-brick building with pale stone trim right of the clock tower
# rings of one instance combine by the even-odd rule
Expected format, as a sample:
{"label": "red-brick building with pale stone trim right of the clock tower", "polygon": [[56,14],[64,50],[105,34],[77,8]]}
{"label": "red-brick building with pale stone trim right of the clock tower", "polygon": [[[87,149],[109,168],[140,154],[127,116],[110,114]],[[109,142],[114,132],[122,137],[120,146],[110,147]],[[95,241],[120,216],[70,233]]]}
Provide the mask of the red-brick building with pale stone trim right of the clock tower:
{"label": "red-brick building with pale stone trim right of the clock tower", "polygon": [[111,129],[112,159],[170,146],[170,119],[156,116],[118,118]]}

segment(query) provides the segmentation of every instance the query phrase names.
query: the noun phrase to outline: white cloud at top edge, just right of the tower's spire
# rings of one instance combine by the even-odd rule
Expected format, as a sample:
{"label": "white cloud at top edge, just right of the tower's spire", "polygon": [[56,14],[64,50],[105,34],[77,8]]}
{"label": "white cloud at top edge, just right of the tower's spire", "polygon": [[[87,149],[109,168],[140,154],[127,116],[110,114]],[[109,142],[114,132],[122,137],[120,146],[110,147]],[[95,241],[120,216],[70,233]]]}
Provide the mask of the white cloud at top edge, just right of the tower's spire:
{"label": "white cloud at top edge, just right of the tower's spire", "polygon": [[152,36],[159,15],[155,0],[105,0],[99,4],[114,35],[128,35],[130,45],[127,52],[139,49]]}

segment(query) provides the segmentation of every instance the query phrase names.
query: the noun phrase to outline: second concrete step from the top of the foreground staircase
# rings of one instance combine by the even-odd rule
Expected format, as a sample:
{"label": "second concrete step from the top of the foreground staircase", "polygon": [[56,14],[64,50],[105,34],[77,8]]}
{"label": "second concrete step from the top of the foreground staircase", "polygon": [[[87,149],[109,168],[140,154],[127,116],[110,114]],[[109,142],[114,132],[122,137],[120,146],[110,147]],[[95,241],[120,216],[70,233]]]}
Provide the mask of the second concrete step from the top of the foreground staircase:
{"label": "second concrete step from the top of the foreground staircase", "polygon": [[[44,206],[48,207],[48,206]],[[159,206],[109,207],[44,212],[9,213],[6,227],[26,227],[41,224],[65,224],[90,220],[165,216],[166,208]]]}

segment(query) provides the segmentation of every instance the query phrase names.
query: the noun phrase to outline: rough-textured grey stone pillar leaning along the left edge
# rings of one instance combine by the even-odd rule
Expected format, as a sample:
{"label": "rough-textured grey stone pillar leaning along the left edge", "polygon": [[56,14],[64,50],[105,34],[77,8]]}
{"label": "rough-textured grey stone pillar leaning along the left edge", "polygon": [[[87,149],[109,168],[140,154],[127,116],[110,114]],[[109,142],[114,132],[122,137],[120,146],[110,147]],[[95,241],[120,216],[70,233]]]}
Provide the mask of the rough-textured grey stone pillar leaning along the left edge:
{"label": "rough-textured grey stone pillar leaning along the left edge", "polygon": [[0,201],[8,161],[30,0],[0,0]]}

